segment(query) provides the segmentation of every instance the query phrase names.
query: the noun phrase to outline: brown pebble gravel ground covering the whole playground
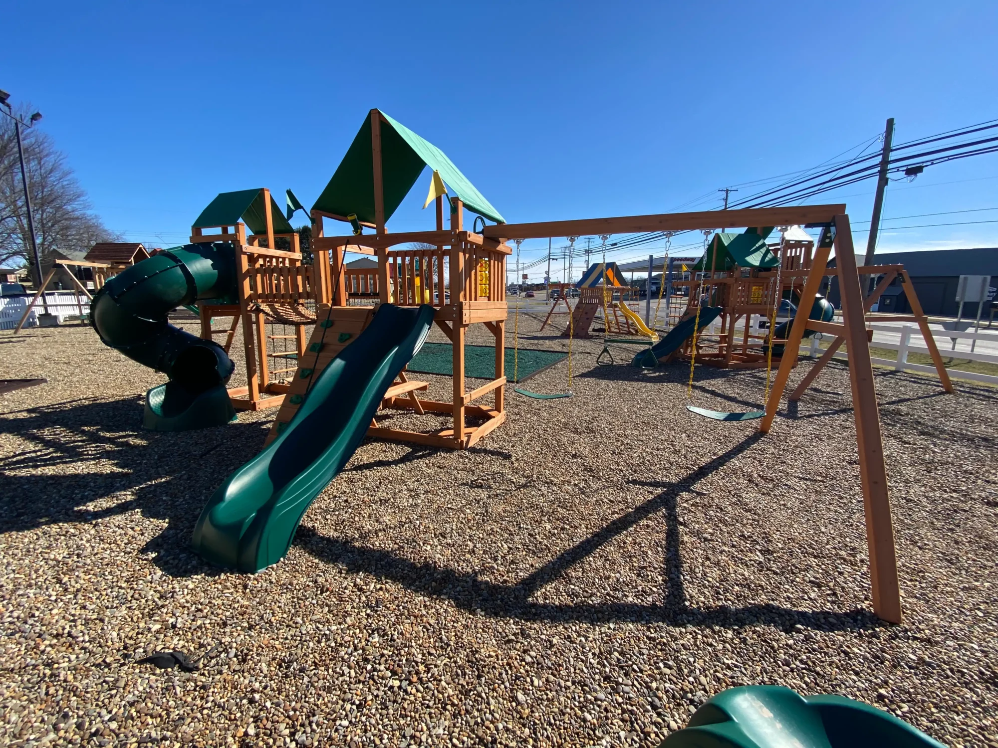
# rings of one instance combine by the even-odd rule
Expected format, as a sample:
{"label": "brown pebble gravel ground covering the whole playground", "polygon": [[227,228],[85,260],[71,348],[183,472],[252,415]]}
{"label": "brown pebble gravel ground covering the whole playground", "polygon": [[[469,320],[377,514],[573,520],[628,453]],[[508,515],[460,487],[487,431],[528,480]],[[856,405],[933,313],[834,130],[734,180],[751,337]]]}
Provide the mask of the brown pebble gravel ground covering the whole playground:
{"label": "brown pebble gravel ground covering the whole playground", "polygon": [[[522,344],[566,346],[520,321]],[[575,397],[511,394],[475,449],[366,442],[250,576],[189,539],[273,411],[145,432],[160,375],[85,327],[0,333],[0,377],[49,379],[0,397],[0,742],[652,746],[724,688],[779,683],[998,746],[996,391],[877,372],[890,626],[840,365],[758,438],[689,414],[685,367],[599,350],[574,343]],[[762,387],[698,367],[694,398],[738,409]],[[136,662],[174,648],[200,669]]]}

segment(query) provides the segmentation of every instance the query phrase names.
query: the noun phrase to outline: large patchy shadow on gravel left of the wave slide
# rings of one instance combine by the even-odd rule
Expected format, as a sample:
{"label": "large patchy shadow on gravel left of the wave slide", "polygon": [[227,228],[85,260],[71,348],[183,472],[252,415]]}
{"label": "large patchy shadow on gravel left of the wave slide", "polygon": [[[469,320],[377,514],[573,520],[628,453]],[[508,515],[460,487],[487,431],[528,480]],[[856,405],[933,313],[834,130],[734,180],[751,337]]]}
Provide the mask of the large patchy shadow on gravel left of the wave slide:
{"label": "large patchy shadow on gravel left of the wave slide", "polygon": [[[0,459],[0,533],[89,524],[142,512],[167,527],[142,553],[164,571],[211,571],[191,533],[212,492],[259,451],[268,422],[146,431],[142,398],[86,398],[0,414],[0,435],[28,448]],[[74,472],[74,466],[79,466]]]}

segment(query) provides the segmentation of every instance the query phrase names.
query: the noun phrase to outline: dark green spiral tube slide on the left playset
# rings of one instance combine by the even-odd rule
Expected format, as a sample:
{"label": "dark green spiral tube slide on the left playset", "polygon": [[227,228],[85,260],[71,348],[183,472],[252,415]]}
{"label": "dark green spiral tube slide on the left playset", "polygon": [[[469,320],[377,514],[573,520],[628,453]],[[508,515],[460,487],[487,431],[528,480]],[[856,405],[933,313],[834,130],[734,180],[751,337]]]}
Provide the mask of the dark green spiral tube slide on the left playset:
{"label": "dark green spiral tube slide on the left playset", "polygon": [[231,300],[235,293],[235,248],[215,242],[161,250],[111,278],[94,296],[90,322],[104,344],[170,377],[146,393],[146,428],[184,431],[235,417],[226,392],[232,360],[218,343],[168,321],[178,306]]}

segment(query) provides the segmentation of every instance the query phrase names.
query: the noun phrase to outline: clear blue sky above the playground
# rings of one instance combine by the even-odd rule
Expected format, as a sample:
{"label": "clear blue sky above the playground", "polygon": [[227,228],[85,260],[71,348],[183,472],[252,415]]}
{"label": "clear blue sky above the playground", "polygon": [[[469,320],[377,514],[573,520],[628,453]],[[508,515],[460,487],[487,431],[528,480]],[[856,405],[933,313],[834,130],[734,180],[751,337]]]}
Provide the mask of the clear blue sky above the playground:
{"label": "clear blue sky above the playground", "polygon": [[[180,243],[219,191],[291,187],[310,205],[372,107],[511,222],[710,208],[719,187],[812,167],[887,117],[895,142],[998,118],[993,0],[16,1],[4,16],[0,88],[43,112],[104,221],[154,246]],[[431,226],[428,182],[389,229]],[[866,228],[872,190],[815,201],[844,200]],[[891,183],[885,216],[946,214],[886,221],[878,251],[998,245],[998,222],[890,228],[998,220],[949,213],[975,208],[998,208],[998,155]]]}

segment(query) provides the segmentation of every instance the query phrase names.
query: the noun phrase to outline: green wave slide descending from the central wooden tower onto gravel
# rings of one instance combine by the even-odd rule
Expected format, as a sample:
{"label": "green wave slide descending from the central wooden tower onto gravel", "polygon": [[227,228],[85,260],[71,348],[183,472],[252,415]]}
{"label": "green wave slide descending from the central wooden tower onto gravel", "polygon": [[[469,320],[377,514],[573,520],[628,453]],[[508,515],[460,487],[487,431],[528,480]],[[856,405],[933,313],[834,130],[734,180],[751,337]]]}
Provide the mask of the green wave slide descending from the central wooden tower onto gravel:
{"label": "green wave slide descending from the central wooden tower onto gravel", "polygon": [[199,554],[240,571],[284,558],[308,505],[346,465],[385,392],[422,347],[433,311],[428,304],[378,307],[316,375],[280,435],[215,492],[195,526]]}

